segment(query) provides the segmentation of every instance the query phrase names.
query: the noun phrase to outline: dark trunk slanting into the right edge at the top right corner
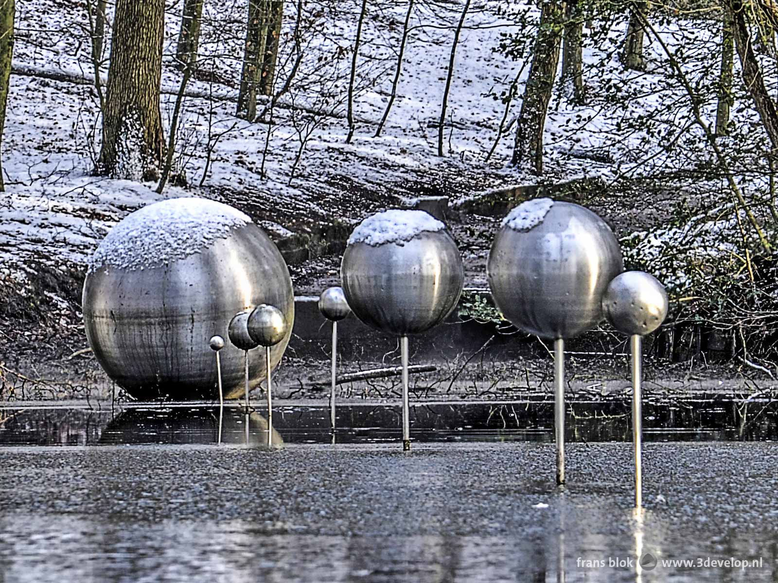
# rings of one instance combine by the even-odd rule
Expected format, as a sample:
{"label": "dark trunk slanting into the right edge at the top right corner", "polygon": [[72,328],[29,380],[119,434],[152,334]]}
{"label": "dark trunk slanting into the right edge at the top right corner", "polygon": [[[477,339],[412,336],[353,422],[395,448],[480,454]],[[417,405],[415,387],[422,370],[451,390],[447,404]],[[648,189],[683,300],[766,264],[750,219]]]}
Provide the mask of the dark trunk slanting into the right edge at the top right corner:
{"label": "dark trunk slanting into the right edge at the top right corner", "polygon": [[767,135],[773,145],[773,152],[778,150],[778,111],[773,99],[765,87],[762,69],[751,44],[751,32],[745,19],[745,7],[741,0],[726,0],[725,5],[730,11],[734,46],[740,57],[743,81],[754,99],[754,106],[762,119]]}

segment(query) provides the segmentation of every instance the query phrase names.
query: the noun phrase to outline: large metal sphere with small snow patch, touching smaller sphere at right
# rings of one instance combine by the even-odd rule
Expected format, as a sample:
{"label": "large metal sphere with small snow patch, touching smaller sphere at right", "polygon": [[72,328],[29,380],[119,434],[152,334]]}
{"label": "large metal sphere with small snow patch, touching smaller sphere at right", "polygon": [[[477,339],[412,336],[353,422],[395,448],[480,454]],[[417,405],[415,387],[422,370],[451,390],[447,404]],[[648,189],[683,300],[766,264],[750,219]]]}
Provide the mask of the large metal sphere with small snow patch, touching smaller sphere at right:
{"label": "large metal sphere with small snow patch, touching smaller sphere at right", "polygon": [[608,225],[578,204],[534,199],[503,221],[486,274],[506,319],[543,338],[574,337],[602,319],[605,288],[623,270]]}

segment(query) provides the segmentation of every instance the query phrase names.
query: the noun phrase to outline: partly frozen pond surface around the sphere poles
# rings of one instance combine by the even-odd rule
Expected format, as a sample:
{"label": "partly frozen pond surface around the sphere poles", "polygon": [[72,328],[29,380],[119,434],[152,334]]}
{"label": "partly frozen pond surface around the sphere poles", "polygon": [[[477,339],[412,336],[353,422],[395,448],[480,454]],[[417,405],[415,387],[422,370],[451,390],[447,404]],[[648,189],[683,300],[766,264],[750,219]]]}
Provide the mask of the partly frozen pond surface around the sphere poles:
{"label": "partly frozen pond surface around the sphere poles", "polygon": [[234,407],[221,445],[213,407],[0,410],[0,581],[778,581],[773,403],[647,407],[641,517],[626,403],[571,407],[562,489],[551,403],[415,407],[407,453],[396,407],[335,445],[277,407],[268,450],[254,404],[249,447]]}

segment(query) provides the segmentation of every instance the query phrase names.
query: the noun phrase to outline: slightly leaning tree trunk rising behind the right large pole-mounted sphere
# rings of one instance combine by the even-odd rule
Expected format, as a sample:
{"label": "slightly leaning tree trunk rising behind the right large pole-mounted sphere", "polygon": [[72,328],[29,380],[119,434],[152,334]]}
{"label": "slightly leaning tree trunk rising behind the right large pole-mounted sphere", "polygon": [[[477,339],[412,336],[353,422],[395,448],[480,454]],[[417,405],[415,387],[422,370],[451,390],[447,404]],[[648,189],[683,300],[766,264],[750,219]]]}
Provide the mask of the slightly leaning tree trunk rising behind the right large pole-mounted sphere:
{"label": "slightly leaning tree trunk rising behind the right large pole-mounted sphere", "polygon": [[563,7],[562,2],[550,0],[541,9],[538,38],[532,51],[510,161],[513,166],[529,167],[538,176],[543,173],[543,128],[559,64]]}

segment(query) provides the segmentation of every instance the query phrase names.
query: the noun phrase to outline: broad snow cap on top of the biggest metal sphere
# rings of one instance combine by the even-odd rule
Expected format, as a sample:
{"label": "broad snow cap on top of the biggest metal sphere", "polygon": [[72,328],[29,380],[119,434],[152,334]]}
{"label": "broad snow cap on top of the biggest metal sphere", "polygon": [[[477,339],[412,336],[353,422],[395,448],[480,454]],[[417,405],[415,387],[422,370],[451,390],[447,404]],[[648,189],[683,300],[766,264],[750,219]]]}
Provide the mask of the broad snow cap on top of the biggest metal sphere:
{"label": "broad snow cap on top of the biggest metal sphere", "polygon": [[206,198],[171,198],[149,204],[117,223],[89,259],[88,273],[100,267],[130,271],[160,267],[200,253],[251,218]]}

